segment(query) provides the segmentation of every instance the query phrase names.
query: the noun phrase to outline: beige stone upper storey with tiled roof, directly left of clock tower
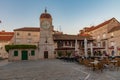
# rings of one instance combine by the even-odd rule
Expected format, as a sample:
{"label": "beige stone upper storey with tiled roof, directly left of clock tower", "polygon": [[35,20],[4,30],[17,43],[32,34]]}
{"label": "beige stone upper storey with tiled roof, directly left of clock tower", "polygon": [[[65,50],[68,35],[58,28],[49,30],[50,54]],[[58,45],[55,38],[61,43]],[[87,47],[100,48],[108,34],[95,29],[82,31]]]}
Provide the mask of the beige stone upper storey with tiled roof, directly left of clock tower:
{"label": "beige stone upper storey with tiled roof, directly left of clock tower", "polygon": [[24,27],[14,29],[14,44],[33,44],[38,45],[40,40],[39,27]]}

